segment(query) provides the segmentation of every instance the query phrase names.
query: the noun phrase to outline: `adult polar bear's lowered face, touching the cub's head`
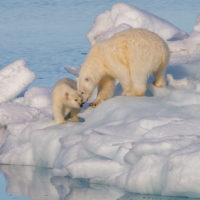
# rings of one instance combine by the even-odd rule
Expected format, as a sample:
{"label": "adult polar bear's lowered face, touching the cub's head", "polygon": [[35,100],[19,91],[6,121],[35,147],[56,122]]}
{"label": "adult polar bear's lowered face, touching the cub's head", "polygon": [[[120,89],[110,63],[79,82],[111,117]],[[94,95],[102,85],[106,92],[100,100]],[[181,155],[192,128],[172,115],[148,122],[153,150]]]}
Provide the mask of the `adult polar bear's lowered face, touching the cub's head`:
{"label": "adult polar bear's lowered face, touching the cub's head", "polygon": [[92,96],[94,90],[94,83],[89,76],[80,77],[77,79],[77,88],[79,94],[82,97],[83,103],[86,103]]}

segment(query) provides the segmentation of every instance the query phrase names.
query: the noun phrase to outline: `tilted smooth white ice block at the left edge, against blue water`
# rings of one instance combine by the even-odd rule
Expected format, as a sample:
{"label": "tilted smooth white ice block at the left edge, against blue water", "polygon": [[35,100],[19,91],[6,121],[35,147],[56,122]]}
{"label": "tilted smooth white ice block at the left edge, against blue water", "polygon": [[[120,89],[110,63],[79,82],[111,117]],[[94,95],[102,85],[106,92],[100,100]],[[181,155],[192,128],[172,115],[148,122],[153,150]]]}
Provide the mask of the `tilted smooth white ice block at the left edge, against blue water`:
{"label": "tilted smooth white ice block at the left edge, against blue water", "polygon": [[4,67],[0,70],[0,102],[8,101],[23,92],[34,79],[34,73],[25,67],[24,60]]}

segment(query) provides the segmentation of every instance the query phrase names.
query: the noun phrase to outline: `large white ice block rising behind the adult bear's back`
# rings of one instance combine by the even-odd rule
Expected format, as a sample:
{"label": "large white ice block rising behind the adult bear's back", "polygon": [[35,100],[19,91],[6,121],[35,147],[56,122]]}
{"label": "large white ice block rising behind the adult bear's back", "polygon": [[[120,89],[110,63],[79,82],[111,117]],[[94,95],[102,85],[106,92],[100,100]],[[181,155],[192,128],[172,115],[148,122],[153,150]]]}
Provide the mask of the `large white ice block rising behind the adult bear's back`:
{"label": "large white ice block rising behind the adult bear's back", "polygon": [[[123,28],[121,27],[122,24],[124,24]],[[107,10],[96,17],[91,30],[87,34],[87,38],[91,45],[94,45],[97,41],[102,40],[102,38],[99,39],[102,34],[111,32],[112,29],[122,30],[128,27],[148,29],[165,40],[188,37],[187,33],[162,18],[135,6],[117,3],[113,5],[111,10]],[[109,34],[109,36],[112,36],[112,34]]]}

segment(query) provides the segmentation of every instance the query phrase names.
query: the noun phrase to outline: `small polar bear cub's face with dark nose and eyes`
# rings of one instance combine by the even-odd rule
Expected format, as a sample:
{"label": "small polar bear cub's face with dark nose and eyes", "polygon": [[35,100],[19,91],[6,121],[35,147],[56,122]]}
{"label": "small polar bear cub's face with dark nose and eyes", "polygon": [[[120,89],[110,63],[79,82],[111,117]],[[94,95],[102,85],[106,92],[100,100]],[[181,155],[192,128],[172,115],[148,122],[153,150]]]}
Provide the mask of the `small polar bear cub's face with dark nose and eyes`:
{"label": "small polar bear cub's face with dark nose and eyes", "polygon": [[78,92],[74,92],[70,94],[68,92],[65,93],[65,105],[70,108],[80,108],[82,107],[82,97],[78,94]]}

